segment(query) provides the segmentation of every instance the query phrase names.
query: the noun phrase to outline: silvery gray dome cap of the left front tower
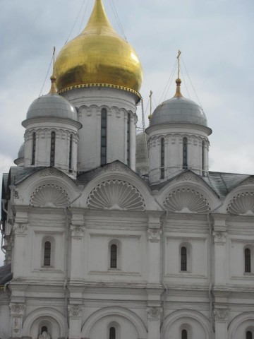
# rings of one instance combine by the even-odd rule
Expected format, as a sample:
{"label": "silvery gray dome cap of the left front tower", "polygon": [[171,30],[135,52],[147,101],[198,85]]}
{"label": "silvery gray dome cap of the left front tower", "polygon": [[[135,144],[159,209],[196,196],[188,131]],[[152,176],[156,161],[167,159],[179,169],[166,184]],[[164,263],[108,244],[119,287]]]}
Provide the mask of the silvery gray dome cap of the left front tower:
{"label": "silvery gray dome cap of the left front tower", "polygon": [[28,108],[27,119],[38,117],[67,118],[78,121],[78,113],[64,97],[49,93],[35,99]]}

